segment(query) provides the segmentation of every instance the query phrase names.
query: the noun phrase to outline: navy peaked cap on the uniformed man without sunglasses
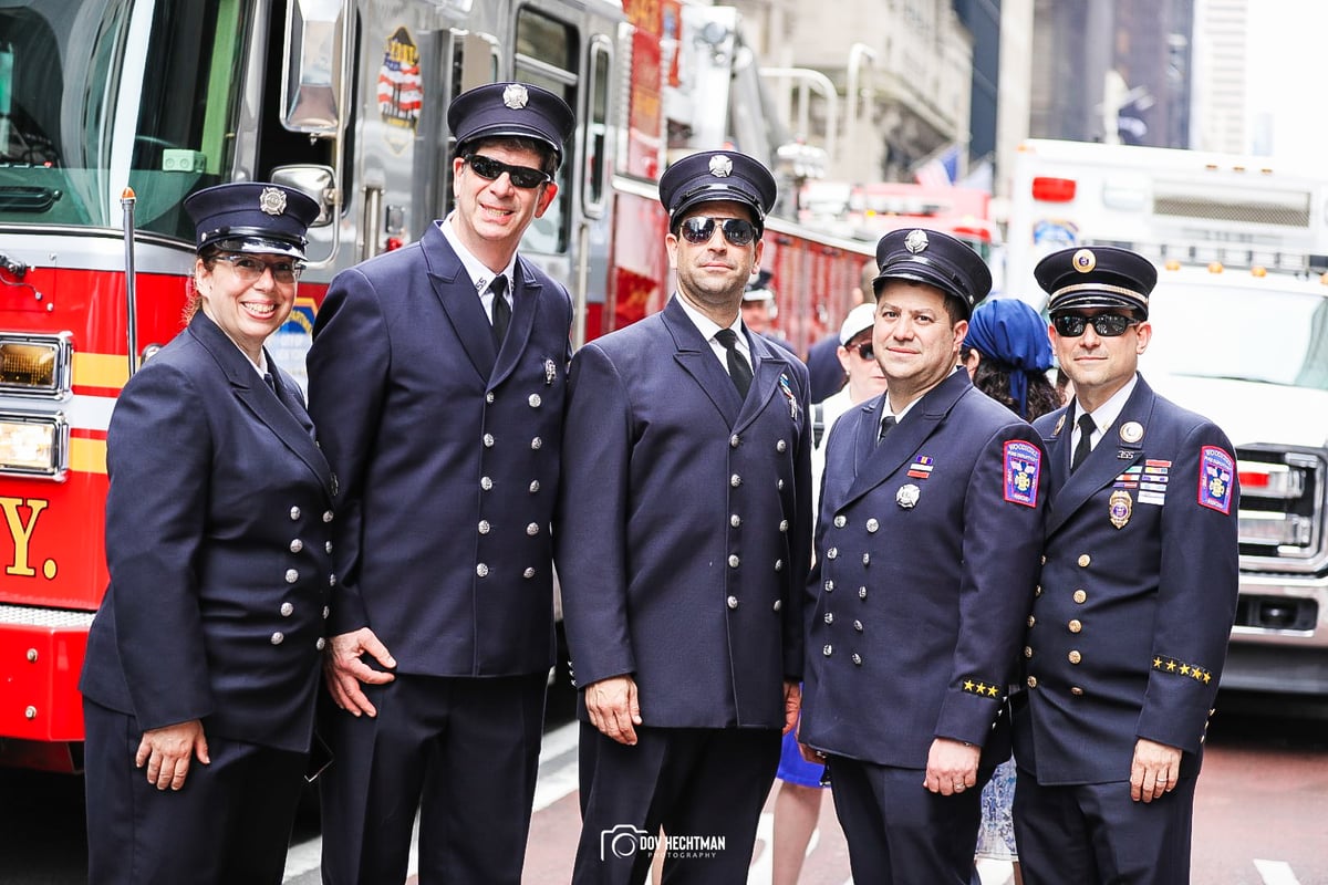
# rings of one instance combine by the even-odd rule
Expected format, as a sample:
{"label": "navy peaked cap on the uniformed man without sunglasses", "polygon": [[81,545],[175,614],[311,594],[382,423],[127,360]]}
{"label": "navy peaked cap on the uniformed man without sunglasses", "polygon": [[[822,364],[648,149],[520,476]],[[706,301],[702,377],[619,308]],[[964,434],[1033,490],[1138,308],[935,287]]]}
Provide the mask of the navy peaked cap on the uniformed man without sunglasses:
{"label": "navy peaked cap on the uniformed man without sunglasses", "polygon": [[960,320],[992,291],[992,272],[983,257],[963,240],[922,228],[891,231],[876,243],[880,273],[871,283],[876,297],[890,280],[908,280],[936,287],[963,305]]}

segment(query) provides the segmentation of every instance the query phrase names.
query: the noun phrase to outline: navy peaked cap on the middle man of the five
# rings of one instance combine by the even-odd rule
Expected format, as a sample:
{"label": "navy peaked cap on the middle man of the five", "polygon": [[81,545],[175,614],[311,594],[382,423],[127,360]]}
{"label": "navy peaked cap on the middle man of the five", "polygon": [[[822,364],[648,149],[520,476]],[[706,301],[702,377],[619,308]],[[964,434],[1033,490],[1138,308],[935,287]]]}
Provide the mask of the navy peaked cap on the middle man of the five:
{"label": "navy peaked cap on the middle man of the five", "polygon": [[765,165],[732,150],[689,154],[660,176],[660,203],[668,210],[668,227],[677,231],[688,210],[700,203],[730,200],[753,212],[757,230],[774,207],[778,186]]}

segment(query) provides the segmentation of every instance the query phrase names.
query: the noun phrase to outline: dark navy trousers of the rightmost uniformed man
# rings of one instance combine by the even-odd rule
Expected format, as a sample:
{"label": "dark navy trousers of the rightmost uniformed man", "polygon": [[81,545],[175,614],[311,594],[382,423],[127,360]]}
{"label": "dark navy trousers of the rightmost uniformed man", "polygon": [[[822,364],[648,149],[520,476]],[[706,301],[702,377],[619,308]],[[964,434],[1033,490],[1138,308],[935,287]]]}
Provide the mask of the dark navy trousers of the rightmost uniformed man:
{"label": "dark navy trousers of the rightmost uniformed man", "polygon": [[1129,782],[1041,787],[1020,771],[1015,841],[1025,885],[1189,885],[1194,778],[1150,803]]}

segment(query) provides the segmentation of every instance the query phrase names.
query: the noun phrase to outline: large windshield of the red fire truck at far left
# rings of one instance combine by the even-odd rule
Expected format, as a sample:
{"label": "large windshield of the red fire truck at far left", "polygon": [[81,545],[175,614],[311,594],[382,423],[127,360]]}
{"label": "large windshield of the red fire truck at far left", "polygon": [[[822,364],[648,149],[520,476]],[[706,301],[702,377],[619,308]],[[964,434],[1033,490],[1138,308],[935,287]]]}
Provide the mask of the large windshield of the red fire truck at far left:
{"label": "large windshield of the red fire truck at far left", "polygon": [[0,0],[0,226],[191,238],[179,208],[222,180],[236,131],[250,4]]}

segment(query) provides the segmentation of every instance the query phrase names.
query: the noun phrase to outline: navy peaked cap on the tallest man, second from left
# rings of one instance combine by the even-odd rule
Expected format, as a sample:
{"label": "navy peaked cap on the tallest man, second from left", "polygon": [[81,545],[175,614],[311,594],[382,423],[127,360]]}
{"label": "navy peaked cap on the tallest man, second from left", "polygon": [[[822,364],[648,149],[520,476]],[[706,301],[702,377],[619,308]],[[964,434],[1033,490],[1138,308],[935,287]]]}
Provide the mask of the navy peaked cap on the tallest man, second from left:
{"label": "navy peaked cap on the tallest man, second from left", "polygon": [[461,93],[448,107],[448,129],[457,154],[469,142],[503,135],[534,138],[554,149],[558,162],[572,134],[575,118],[567,102],[529,84],[486,84]]}

